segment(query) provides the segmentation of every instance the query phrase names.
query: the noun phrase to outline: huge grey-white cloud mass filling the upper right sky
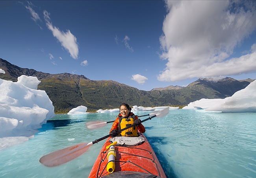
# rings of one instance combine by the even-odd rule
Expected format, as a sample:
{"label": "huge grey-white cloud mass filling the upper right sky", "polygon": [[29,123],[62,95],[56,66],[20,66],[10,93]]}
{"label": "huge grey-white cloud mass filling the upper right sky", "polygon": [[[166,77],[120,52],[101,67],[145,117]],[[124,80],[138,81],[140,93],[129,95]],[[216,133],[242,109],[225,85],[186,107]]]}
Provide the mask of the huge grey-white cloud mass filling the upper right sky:
{"label": "huge grey-white cloud mass filling the upper right sky", "polygon": [[256,71],[256,45],[230,58],[256,29],[253,1],[166,1],[160,43],[168,60],[158,80],[238,75]]}

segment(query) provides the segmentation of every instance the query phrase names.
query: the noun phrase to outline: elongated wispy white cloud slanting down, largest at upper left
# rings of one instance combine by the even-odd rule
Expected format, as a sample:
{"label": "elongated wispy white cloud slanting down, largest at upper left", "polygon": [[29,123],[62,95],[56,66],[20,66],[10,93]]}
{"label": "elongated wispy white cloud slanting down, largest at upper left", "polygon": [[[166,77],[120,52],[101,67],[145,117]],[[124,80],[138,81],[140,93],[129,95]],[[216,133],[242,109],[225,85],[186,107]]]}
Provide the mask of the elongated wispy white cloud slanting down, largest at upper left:
{"label": "elongated wispy white cloud slanting down, largest at upper left", "polygon": [[76,36],[74,36],[69,30],[67,32],[60,31],[58,27],[52,25],[50,19],[50,13],[44,11],[44,18],[48,29],[52,31],[52,34],[70,54],[74,59],[78,58],[78,43],[76,41]]}

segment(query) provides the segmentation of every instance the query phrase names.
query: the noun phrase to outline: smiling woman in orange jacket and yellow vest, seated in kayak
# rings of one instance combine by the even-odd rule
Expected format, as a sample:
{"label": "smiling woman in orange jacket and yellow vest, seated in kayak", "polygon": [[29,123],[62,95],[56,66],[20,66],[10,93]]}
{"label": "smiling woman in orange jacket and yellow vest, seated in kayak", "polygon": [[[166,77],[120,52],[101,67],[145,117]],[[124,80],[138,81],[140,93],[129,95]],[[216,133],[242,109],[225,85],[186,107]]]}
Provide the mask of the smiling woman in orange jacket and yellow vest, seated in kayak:
{"label": "smiling woman in orange jacket and yellow vest, seated in kayak", "polygon": [[141,133],[145,132],[145,127],[141,124],[141,120],[138,119],[134,113],[131,113],[131,108],[128,104],[122,103],[120,105],[120,114],[117,116],[115,122],[110,129],[109,134],[117,136],[117,131],[128,127],[129,125],[136,124],[137,126],[131,127],[119,133],[119,136],[138,136],[137,129]]}

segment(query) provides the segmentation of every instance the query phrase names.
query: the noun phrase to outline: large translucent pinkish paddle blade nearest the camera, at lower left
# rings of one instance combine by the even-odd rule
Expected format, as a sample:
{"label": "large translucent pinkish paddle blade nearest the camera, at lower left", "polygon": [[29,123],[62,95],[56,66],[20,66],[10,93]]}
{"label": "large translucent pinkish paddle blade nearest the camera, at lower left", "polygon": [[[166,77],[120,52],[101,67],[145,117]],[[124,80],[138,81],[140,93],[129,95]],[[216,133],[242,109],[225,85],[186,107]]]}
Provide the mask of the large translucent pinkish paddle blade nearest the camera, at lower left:
{"label": "large translucent pinkish paddle blade nearest the camera, at lower left", "polygon": [[54,167],[61,165],[63,163],[69,162],[74,158],[77,158],[85,151],[87,151],[92,145],[91,143],[80,143],[77,145],[73,145],[71,147],[67,147],[49,154],[46,154],[42,158],[40,158],[39,162],[47,167]]}

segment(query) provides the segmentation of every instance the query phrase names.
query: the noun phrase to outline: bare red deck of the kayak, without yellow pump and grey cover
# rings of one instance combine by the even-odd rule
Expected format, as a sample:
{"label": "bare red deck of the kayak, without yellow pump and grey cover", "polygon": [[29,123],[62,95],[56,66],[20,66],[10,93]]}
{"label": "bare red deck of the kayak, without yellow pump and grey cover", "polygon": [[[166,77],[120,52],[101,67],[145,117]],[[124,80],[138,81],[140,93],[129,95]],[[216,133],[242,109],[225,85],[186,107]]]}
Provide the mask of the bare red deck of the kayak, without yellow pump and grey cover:
{"label": "bare red deck of the kayak, without yellow pump and grey cover", "polygon": [[[141,135],[145,138],[144,134]],[[125,175],[128,177],[130,175],[134,178],[147,177],[150,175],[156,175],[153,177],[166,178],[165,173],[156,157],[156,154],[154,153],[146,138],[145,142],[136,146],[115,145],[115,171],[109,174],[106,169],[108,163],[108,150],[106,147],[111,144],[109,141],[110,138],[111,137],[109,137],[108,140],[104,143],[100,154],[98,155],[95,164],[93,165],[91,173],[89,174],[89,178],[99,178],[106,175],[113,178],[125,177]],[[135,176],[136,173],[137,176]]]}

